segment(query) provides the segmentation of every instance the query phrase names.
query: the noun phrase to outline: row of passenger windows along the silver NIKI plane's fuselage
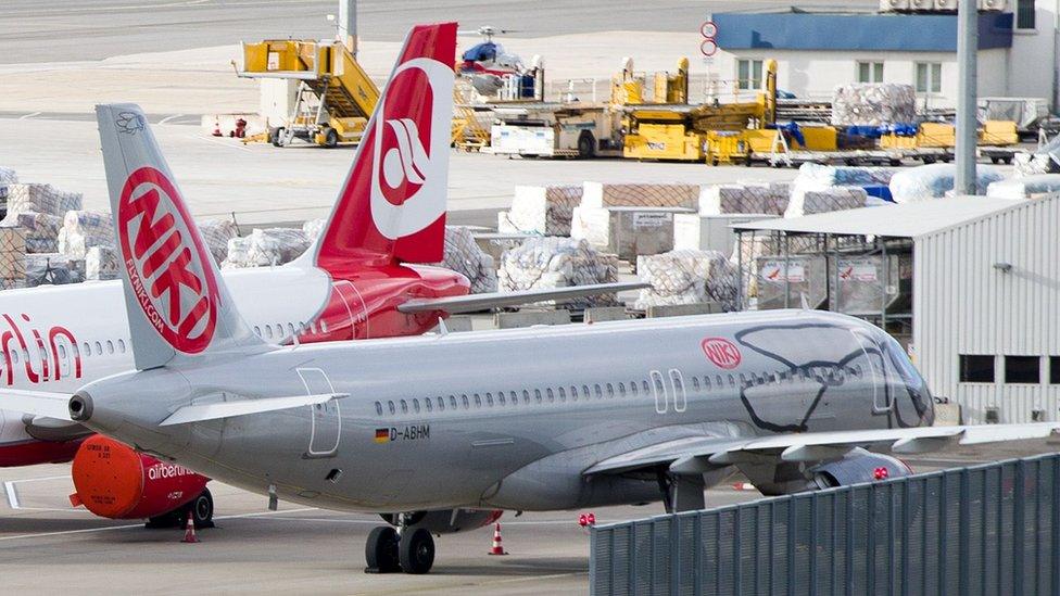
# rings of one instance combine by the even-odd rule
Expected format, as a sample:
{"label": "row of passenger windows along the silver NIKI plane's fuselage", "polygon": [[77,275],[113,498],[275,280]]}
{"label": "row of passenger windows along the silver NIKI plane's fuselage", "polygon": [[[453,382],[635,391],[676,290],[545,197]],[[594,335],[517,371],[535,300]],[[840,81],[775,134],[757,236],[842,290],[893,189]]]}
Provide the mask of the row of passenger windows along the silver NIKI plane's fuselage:
{"label": "row of passenger windows along the silver NIKI plane's fuselage", "polygon": [[[841,380],[844,378],[843,373],[836,373],[836,368],[833,367],[813,367],[809,370],[800,369],[797,371],[777,371],[777,372],[761,372],[755,373],[743,373],[739,376],[733,375],[716,375],[712,378],[707,375],[704,377],[692,377],[692,391],[698,392],[702,390],[710,391],[711,386],[722,389],[724,386],[735,388],[736,381],[739,379],[741,386],[748,385],[760,385],[768,383],[783,383],[783,382],[794,382],[796,380],[826,380],[833,382],[835,380]],[[855,366],[848,368],[846,373],[860,378],[862,376],[861,366]],[[678,391],[683,392],[685,390],[685,381],[683,376],[677,369],[670,370],[670,380]],[[421,413],[433,413],[433,411],[445,411],[446,408],[451,410],[456,409],[470,409],[482,408],[482,407],[512,407],[518,406],[520,401],[522,405],[529,406],[531,404],[553,404],[557,401],[559,403],[565,403],[568,398],[571,402],[577,402],[578,400],[602,400],[606,397],[626,397],[636,396],[639,394],[644,396],[653,396],[652,383],[655,384],[655,394],[665,394],[667,388],[664,384],[662,376],[654,373],[652,376],[652,381],[647,379],[642,379],[640,381],[630,381],[629,384],[619,381],[617,383],[595,383],[592,386],[583,384],[580,388],[578,385],[569,385],[567,388],[545,388],[541,389],[523,389],[521,392],[516,391],[497,391],[485,392],[485,393],[462,393],[459,395],[450,395],[447,397],[437,396],[437,397],[412,397],[403,400],[388,400],[384,402],[376,402],[376,414],[379,416],[384,415],[401,415],[401,414],[421,414]]]}

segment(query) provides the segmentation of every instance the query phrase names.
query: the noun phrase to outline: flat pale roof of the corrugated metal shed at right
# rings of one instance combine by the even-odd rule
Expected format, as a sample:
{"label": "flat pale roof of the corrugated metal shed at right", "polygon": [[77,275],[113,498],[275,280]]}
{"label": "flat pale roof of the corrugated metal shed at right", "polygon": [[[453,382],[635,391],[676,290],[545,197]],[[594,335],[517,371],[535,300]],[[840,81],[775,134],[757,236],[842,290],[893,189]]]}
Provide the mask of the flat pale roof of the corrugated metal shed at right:
{"label": "flat pale roof of the corrugated metal shed at right", "polygon": [[737,231],[833,233],[919,238],[1021,204],[990,196],[958,196],[901,205],[833,211],[803,217],[759,219],[730,226]]}

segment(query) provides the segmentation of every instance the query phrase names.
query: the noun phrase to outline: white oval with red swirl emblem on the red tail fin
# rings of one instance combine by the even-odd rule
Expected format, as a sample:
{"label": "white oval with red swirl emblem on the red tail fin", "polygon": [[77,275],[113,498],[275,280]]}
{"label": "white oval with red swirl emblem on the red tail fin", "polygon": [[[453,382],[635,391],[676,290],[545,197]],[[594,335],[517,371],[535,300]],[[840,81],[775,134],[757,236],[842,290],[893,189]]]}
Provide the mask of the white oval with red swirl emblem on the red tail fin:
{"label": "white oval with red swirl emblem on the red tail fin", "polygon": [[391,240],[427,228],[445,212],[453,69],[416,58],[387,86],[373,135],[371,219]]}

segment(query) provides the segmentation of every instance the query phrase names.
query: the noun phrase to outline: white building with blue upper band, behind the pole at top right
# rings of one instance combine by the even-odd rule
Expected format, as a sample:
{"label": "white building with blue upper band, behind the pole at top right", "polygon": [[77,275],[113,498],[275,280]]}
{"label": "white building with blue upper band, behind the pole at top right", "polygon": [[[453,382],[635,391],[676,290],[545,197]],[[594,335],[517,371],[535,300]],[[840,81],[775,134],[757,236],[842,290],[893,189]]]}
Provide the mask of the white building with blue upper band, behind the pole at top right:
{"label": "white building with blue upper band, behind the pole at top right", "polygon": [[[1007,8],[979,14],[979,96],[1043,98],[1055,106],[1056,3],[1009,0]],[[737,91],[760,85],[762,64],[773,59],[778,87],[800,99],[830,99],[837,85],[897,83],[912,85],[923,106],[957,105],[954,12],[790,10],[716,13],[711,20],[718,52],[710,67],[720,80],[736,81]]]}

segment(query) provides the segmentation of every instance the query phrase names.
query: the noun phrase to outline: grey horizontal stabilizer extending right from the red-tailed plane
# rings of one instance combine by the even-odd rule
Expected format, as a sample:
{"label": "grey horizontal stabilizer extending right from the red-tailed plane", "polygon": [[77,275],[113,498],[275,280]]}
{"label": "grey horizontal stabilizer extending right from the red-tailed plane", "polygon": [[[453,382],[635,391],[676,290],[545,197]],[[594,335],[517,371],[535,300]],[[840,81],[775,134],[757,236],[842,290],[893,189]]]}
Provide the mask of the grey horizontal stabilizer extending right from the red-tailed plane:
{"label": "grey horizontal stabilizer extending right from the red-tailed plane", "polygon": [[464,296],[449,296],[441,299],[411,300],[398,305],[402,313],[427,313],[442,310],[451,315],[458,313],[474,313],[500,306],[515,306],[554,300],[567,302],[584,296],[624,292],[648,288],[651,283],[642,281],[621,281],[615,283],[594,283],[591,286],[570,286],[568,288],[546,288],[542,290],[526,290],[522,292],[490,292],[487,294],[468,294]]}

